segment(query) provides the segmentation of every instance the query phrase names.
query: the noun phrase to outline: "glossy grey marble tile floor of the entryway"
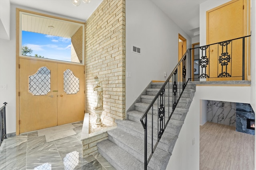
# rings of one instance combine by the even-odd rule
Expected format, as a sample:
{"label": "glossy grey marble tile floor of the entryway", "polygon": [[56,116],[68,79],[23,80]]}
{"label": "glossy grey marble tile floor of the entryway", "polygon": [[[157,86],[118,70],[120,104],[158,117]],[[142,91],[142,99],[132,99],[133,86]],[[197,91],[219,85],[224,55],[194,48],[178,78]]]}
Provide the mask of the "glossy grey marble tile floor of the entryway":
{"label": "glossy grey marble tile floor of the entryway", "polygon": [[4,139],[0,170],[115,170],[98,152],[82,158],[82,121],[72,125],[76,135],[49,143],[37,131]]}

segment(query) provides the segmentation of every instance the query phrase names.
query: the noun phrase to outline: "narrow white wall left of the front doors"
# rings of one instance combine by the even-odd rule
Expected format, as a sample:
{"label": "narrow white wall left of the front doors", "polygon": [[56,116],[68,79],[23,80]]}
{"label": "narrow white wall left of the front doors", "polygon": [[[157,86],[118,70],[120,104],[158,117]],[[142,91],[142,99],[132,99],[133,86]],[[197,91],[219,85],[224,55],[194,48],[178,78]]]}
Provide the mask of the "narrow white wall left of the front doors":
{"label": "narrow white wall left of the front doors", "polygon": [[[1,3],[2,5],[2,3]],[[11,7],[12,8],[12,7]],[[2,8],[1,8],[2,9]],[[16,12],[10,12],[10,40],[0,39],[0,84],[6,84],[6,90],[0,90],[0,107],[6,106],[6,133],[16,132]]]}

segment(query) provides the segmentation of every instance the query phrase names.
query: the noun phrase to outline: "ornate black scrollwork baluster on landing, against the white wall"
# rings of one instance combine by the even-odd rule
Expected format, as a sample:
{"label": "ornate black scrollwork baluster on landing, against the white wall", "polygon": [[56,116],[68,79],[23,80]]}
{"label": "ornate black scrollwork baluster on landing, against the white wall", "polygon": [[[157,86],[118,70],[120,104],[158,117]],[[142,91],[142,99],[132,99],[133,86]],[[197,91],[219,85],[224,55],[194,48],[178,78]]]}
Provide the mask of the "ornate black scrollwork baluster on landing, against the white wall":
{"label": "ornate black scrollwork baluster on landing, against the white wall", "polygon": [[206,74],[206,67],[209,65],[209,58],[206,55],[206,49],[208,49],[209,45],[205,45],[200,47],[202,51],[202,57],[199,59],[200,67],[201,67],[201,74],[199,73],[199,78],[209,78],[209,75]]}

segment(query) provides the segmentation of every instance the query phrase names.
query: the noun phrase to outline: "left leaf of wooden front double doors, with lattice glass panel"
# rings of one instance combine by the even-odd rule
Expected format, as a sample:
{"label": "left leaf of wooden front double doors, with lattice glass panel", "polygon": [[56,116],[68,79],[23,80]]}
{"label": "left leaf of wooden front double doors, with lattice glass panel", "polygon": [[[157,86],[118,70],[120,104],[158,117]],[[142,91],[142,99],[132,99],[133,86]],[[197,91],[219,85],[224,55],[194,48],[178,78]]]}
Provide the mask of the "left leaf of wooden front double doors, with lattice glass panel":
{"label": "left leaf of wooden front double doors, with lattice glass panel", "polygon": [[20,60],[20,133],[57,125],[57,63]]}

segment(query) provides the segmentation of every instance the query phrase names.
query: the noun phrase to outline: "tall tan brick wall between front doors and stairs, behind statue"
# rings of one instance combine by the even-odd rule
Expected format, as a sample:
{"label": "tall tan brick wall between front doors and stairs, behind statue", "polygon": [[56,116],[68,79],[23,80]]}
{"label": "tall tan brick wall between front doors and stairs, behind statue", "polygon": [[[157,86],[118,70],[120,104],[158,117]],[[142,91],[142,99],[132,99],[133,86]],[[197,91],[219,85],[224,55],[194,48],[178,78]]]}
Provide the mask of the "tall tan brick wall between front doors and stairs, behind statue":
{"label": "tall tan brick wall between front doors and stairs, behind statue", "polygon": [[103,121],[125,119],[125,0],[103,0],[86,21],[86,112],[96,104],[94,77],[103,84]]}

